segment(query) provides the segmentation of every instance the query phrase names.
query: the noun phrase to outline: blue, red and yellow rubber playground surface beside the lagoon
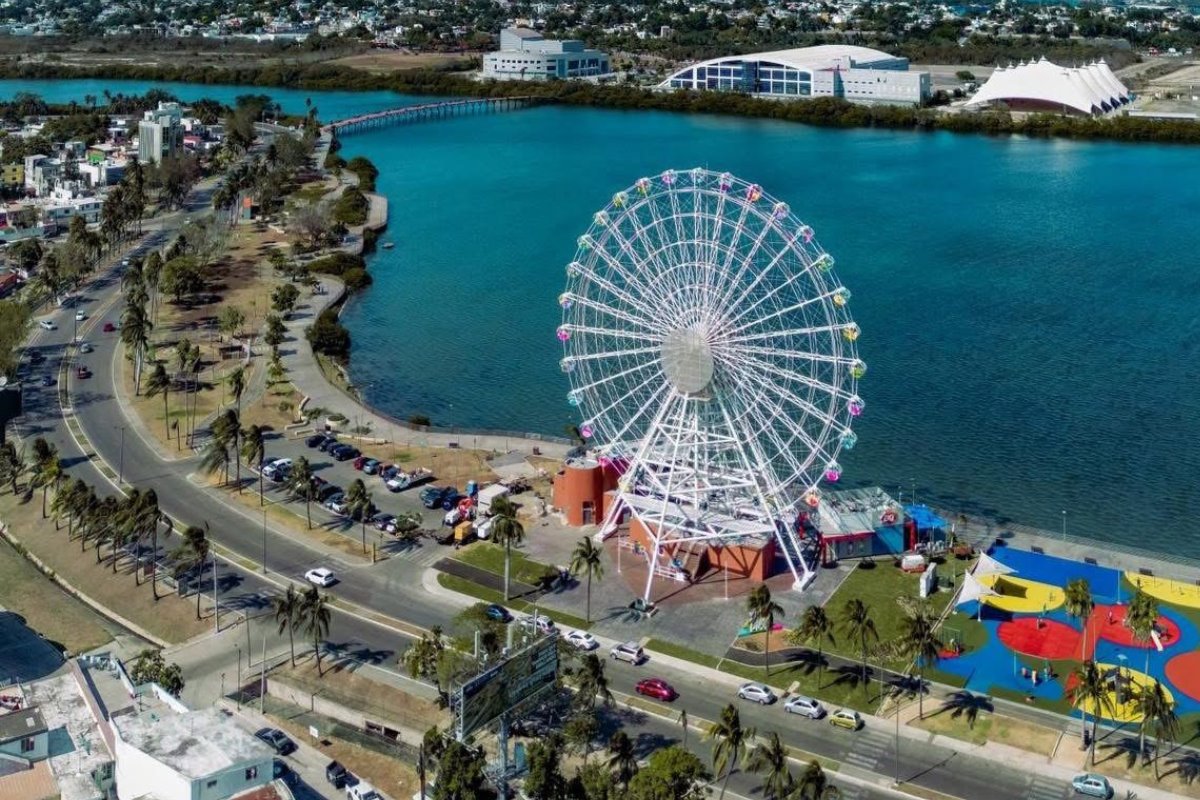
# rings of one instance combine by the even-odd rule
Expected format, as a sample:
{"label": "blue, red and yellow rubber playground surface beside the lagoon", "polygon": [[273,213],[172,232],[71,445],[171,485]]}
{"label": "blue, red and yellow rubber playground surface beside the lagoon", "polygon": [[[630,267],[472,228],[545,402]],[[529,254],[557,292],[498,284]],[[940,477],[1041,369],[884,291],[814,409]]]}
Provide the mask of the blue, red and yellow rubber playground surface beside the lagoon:
{"label": "blue, red and yellow rubber playground surface beside the lagoon", "polygon": [[[1008,547],[989,555],[1010,572],[978,577],[989,594],[960,604],[943,630],[949,639],[978,625],[985,640],[961,655],[947,651],[940,670],[964,678],[976,692],[1069,703],[1072,669],[1092,658],[1114,693],[1115,715],[1104,716],[1138,721],[1130,698],[1154,681],[1175,700],[1176,714],[1200,712],[1200,630],[1194,621],[1200,620],[1200,587]],[[1063,589],[1076,578],[1087,581],[1096,603],[1087,620],[1070,618],[1063,607]],[[1124,625],[1126,603],[1138,587],[1159,606],[1148,642],[1136,640]]]}

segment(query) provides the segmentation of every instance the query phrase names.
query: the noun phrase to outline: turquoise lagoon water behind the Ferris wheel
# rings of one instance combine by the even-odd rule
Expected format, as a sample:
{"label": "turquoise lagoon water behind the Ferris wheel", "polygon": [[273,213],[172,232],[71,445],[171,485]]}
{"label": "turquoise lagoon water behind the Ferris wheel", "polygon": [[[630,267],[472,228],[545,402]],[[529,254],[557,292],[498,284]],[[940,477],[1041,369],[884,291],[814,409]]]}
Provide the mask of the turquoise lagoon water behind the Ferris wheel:
{"label": "turquoise lagoon water behind the Ferris wheel", "polygon": [[[286,108],[312,97],[326,119],[414,102],[264,91]],[[390,198],[395,249],[371,257],[376,283],[344,314],[353,377],[382,409],[576,422],[554,338],[575,239],[616,190],[700,164],[787,200],[853,291],[870,373],[847,485],[1051,530],[1067,510],[1072,534],[1200,557],[1195,149],[538,108],[344,151],[379,166]]]}

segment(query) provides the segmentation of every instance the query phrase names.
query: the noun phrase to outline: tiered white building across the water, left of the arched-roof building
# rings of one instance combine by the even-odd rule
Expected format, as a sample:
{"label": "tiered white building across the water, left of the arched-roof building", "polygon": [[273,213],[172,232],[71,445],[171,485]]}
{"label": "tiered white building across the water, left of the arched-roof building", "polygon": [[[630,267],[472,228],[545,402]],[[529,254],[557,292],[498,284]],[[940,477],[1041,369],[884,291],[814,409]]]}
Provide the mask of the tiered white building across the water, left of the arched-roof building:
{"label": "tiered white building across the water, left of the arched-roof building", "polygon": [[578,40],[542,38],[528,28],[500,31],[500,49],[484,56],[484,77],[504,80],[596,78],[612,72],[608,56]]}

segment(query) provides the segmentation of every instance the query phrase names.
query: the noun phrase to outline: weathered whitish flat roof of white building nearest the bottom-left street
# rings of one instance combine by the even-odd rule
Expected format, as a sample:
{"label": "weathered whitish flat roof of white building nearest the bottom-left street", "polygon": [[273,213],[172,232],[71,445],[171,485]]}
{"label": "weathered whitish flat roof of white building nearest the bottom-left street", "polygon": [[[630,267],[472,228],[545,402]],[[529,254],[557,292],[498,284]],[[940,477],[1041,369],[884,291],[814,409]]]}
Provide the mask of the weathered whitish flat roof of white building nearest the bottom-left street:
{"label": "weathered whitish flat roof of white building nearest the bottom-left street", "polygon": [[190,778],[245,762],[266,760],[274,753],[242,730],[228,711],[202,709],[176,714],[166,705],[139,702],[139,706],[136,712],[113,717],[121,739]]}

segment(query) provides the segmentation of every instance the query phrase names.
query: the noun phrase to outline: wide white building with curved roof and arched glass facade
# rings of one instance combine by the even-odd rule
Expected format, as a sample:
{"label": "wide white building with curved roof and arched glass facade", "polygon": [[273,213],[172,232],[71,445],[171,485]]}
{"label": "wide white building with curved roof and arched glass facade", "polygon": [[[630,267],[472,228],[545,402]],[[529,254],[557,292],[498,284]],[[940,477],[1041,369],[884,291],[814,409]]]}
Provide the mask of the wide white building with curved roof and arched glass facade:
{"label": "wide white building with curved roof and arched glass facade", "polygon": [[925,102],[931,94],[929,73],[910,72],[908,59],[852,44],[709,59],[679,70],[659,88],[913,106]]}

